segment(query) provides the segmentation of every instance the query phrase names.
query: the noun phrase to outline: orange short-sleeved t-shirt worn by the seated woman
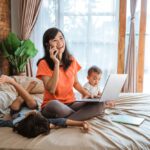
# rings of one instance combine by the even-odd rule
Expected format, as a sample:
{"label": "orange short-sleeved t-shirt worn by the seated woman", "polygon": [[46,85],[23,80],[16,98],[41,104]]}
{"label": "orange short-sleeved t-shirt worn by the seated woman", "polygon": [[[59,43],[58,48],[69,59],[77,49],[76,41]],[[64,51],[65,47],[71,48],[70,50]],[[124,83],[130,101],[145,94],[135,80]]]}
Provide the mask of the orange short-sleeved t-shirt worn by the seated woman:
{"label": "orange short-sleeved t-shirt worn by the seated woman", "polygon": [[[75,95],[73,92],[73,84],[75,81],[75,76],[77,72],[81,69],[81,66],[72,58],[72,63],[69,68],[64,71],[63,67],[59,70],[59,80],[56,87],[56,94],[51,94],[48,90],[44,91],[44,100],[42,103],[42,108],[50,100],[59,100],[62,103],[71,103],[75,101]],[[52,77],[53,70],[51,70],[45,60],[41,60],[38,64],[37,77],[41,79],[42,76]]]}

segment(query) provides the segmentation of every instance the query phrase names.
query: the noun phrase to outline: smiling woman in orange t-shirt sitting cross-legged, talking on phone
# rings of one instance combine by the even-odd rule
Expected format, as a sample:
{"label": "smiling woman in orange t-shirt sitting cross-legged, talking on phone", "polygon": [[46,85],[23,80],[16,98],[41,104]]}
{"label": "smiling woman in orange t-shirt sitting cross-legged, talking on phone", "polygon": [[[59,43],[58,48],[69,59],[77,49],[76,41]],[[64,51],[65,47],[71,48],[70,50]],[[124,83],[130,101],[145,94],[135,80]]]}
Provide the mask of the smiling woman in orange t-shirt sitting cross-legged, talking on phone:
{"label": "smiling woman in orange t-shirt sitting cross-legged, talking on phone", "polygon": [[73,88],[83,97],[90,97],[78,81],[81,69],[69,53],[65,37],[57,28],[48,29],[43,36],[45,55],[38,61],[37,77],[45,86],[42,114],[47,118],[68,117],[86,120],[103,111],[103,103],[75,102]]}

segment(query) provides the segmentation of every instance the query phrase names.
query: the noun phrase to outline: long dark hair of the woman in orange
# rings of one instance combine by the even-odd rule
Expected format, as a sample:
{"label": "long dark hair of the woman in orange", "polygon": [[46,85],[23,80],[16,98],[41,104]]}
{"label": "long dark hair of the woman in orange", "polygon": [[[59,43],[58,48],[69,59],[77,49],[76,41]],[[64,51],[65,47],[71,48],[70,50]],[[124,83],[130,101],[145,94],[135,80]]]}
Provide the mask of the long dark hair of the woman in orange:
{"label": "long dark hair of the woman in orange", "polygon": [[[63,38],[65,39],[62,31],[57,29],[57,28],[50,28],[50,29],[46,30],[46,32],[44,33],[44,35],[43,35],[43,47],[44,47],[45,55],[43,58],[41,58],[38,61],[37,65],[39,64],[39,62],[41,60],[44,59],[44,60],[46,60],[47,64],[49,65],[50,69],[54,70],[54,62],[50,58],[50,53],[49,53],[49,40],[53,40],[58,32],[60,32],[62,34]],[[67,49],[67,45],[65,43],[65,50],[64,50],[63,55],[62,55],[62,64],[63,64],[64,70],[68,69],[71,62],[72,62],[71,54],[69,53],[69,51]]]}

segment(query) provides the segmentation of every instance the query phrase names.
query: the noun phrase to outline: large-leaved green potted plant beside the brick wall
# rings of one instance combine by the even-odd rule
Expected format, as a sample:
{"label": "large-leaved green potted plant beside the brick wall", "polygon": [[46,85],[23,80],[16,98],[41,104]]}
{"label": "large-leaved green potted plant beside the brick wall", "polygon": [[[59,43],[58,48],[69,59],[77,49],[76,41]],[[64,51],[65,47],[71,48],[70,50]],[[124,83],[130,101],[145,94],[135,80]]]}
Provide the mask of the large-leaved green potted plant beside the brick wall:
{"label": "large-leaved green potted plant beside the brick wall", "polygon": [[25,72],[25,66],[30,58],[37,54],[34,43],[30,40],[21,41],[15,33],[10,32],[0,44],[2,53],[13,67],[15,74]]}

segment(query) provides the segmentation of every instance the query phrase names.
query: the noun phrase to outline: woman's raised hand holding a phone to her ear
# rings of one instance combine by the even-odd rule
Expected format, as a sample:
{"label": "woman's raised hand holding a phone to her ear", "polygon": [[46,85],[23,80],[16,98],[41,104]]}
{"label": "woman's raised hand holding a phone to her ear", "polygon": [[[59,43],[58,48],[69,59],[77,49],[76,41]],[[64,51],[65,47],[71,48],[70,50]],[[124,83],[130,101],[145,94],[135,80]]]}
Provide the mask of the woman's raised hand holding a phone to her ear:
{"label": "woman's raised hand holding a phone to her ear", "polygon": [[54,61],[54,63],[59,64],[60,61],[58,59],[58,50],[57,50],[57,48],[50,46],[49,53],[50,53],[50,58]]}

